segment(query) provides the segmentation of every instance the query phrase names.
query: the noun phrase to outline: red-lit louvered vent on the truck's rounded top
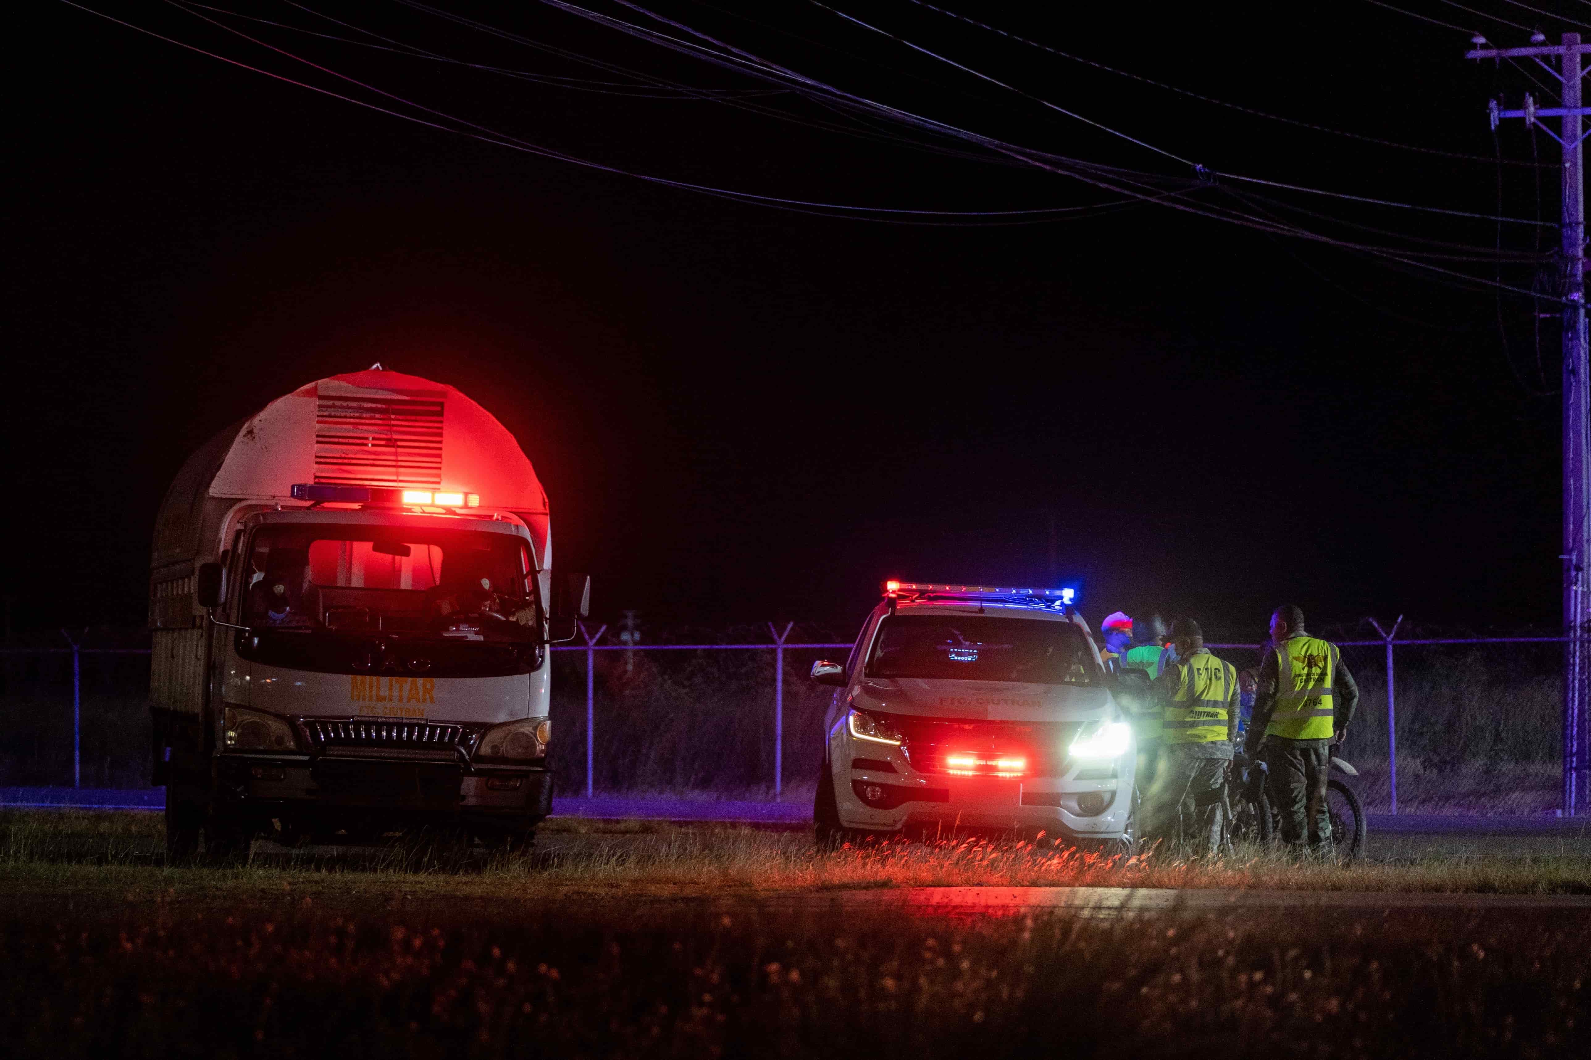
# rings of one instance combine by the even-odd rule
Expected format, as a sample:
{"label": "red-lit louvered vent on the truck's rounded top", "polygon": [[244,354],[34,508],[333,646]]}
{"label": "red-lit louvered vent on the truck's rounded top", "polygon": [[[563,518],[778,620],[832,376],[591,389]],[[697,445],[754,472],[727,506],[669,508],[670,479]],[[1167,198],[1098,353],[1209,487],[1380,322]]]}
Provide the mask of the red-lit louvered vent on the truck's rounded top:
{"label": "red-lit louvered vent on the truck's rounded top", "polygon": [[441,394],[377,396],[321,386],[315,405],[315,482],[442,485]]}

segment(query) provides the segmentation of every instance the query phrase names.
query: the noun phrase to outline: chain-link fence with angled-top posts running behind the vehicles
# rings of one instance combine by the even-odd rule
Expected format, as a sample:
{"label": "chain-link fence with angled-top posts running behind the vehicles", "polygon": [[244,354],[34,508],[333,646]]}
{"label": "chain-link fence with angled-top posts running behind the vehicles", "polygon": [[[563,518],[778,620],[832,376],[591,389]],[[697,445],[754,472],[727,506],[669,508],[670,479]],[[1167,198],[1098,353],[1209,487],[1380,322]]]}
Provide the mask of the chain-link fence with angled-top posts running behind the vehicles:
{"label": "chain-link fence with angled-top posts running behind the vehicles", "polygon": [[[590,626],[554,648],[557,790],[810,795],[834,690],[808,672],[850,644],[800,626],[738,634],[624,645]],[[1360,771],[1356,787],[1371,812],[1562,807],[1570,771],[1561,639],[1336,644],[1360,690],[1340,753]],[[1260,645],[1214,648],[1238,667],[1258,664]],[[65,642],[0,652],[0,787],[146,785],[148,679],[146,648]],[[1581,791],[1585,764],[1581,752]],[[1583,795],[1578,809],[1586,812]]]}

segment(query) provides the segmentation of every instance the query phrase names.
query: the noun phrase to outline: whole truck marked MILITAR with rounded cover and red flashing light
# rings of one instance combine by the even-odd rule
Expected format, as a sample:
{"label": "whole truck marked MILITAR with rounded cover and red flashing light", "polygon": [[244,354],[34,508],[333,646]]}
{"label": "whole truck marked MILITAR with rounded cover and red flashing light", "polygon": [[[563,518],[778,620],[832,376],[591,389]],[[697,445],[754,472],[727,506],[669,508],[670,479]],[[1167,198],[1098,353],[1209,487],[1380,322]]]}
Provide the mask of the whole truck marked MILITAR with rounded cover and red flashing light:
{"label": "whole truck marked MILITAR with rounded cover and red flashing light", "polygon": [[320,380],[189,459],[156,528],[154,774],[175,857],[418,828],[528,842],[552,806],[546,494],[445,385]]}

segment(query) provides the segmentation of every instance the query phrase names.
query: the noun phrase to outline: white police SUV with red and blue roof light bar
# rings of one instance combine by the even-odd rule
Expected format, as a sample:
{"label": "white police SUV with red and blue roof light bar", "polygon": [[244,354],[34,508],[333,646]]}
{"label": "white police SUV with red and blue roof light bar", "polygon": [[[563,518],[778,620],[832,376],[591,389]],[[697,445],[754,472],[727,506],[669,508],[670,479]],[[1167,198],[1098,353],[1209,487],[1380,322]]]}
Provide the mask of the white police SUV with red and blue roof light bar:
{"label": "white police SUV with red and blue roof light bar", "polygon": [[1072,590],[886,582],[824,720],[818,844],[955,830],[1136,838],[1133,726]]}

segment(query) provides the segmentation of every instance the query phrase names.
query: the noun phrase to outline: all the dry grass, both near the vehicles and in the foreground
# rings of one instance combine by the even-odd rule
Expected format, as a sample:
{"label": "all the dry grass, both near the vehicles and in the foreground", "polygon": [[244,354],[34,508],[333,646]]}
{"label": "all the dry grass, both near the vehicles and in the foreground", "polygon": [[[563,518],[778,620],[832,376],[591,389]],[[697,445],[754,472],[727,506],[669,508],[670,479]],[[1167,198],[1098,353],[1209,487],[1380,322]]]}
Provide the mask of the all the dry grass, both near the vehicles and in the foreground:
{"label": "all the dry grass, both near the vehicles and in the foreground", "polygon": [[242,866],[167,868],[159,826],[0,815],[8,1055],[1551,1057],[1585,1055],[1591,1028],[1583,915],[778,899],[907,884],[1588,893],[1585,858],[1112,863],[975,839],[821,857],[802,833],[584,822],[533,855],[261,845]]}

